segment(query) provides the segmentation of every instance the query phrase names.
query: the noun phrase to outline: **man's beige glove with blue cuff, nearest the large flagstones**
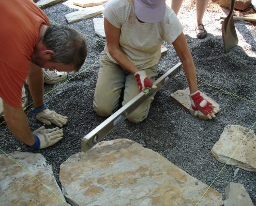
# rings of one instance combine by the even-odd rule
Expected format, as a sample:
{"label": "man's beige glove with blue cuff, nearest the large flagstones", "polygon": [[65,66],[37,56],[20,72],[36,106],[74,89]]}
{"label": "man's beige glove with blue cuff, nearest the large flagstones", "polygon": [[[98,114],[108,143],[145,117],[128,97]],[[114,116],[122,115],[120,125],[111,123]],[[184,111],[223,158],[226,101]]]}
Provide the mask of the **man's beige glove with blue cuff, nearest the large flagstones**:
{"label": "man's beige glove with blue cuff, nearest the large flagstones", "polygon": [[43,149],[50,147],[62,140],[63,130],[55,127],[53,129],[46,129],[44,126],[38,128],[33,132],[35,143],[28,148]]}

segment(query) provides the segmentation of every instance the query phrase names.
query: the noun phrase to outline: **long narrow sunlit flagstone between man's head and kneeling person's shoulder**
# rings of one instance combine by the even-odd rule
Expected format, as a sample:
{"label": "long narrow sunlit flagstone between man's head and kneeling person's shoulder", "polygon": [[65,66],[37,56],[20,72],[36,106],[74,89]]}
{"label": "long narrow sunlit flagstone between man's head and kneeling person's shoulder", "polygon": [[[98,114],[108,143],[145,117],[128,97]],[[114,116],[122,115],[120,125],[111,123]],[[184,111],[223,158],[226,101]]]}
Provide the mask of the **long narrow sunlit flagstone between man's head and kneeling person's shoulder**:
{"label": "long narrow sunlit flagstone between man's head and kneeling person's shoulder", "polygon": [[86,20],[89,18],[92,18],[93,16],[96,16],[100,13],[102,13],[104,7],[102,5],[100,6],[94,6],[94,7],[87,7],[83,10],[75,11],[72,13],[66,14],[66,19],[69,24],[73,24],[82,20]]}

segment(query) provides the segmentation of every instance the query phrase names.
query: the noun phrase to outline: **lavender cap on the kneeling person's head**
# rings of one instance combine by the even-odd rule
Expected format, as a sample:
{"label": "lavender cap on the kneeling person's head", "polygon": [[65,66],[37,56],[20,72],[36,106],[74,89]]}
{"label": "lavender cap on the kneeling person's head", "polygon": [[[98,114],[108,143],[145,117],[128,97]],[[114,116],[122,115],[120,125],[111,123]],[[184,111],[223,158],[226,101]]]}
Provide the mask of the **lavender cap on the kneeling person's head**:
{"label": "lavender cap on the kneeling person's head", "polygon": [[135,0],[134,2],[135,14],[140,21],[157,23],[163,20],[165,0]]}

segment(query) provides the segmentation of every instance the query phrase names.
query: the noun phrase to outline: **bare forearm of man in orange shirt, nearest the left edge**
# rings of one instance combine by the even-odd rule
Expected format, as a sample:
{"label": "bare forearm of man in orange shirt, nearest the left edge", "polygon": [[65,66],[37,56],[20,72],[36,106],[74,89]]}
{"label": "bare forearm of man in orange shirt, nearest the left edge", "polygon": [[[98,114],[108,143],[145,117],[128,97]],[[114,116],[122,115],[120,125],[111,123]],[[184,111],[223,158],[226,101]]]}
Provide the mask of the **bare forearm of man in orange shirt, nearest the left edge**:
{"label": "bare forearm of man in orange shirt, nearest the left edge", "polygon": [[3,101],[5,121],[13,133],[20,141],[32,146],[35,143],[32,131],[29,129],[26,115],[22,108],[14,108]]}

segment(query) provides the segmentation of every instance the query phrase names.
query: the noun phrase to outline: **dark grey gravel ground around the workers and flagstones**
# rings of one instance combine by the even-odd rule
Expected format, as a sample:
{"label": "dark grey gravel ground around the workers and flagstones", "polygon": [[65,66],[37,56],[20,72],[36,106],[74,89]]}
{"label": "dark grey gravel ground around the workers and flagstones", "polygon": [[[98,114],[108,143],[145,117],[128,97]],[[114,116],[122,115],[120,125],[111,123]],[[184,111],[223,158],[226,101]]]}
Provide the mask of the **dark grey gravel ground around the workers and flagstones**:
{"label": "dark grey gravel ground around the workers and flagstones", "polygon": [[[169,0],[167,1],[168,3]],[[51,23],[68,25],[65,14],[78,10],[70,8],[67,2],[43,9]],[[225,199],[224,190],[229,182],[244,184],[253,203],[256,204],[256,174],[240,169],[234,177],[236,167],[226,166],[218,178],[223,164],[210,155],[210,149],[219,140],[227,125],[242,125],[251,128],[256,122],[256,33],[255,24],[247,21],[235,21],[238,45],[229,53],[223,52],[221,24],[216,21],[218,14],[227,13],[227,9],[209,1],[204,15],[204,25],[208,36],[204,40],[195,37],[195,4],[186,0],[180,9],[178,18],[184,26],[192,57],[197,70],[199,89],[212,97],[220,105],[220,113],[212,121],[202,121],[187,113],[170,95],[188,87],[184,73],[176,75],[164,88],[157,92],[148,117],[140,124],[123,122],[104,140],[127,138],[142,146],[159,152],[163,157],[185,170],[189,175],[210,185],[219,191]],[[243,15],[248,11],[235,11]],[[255,12],[255,11],[254,11]],[[102,15],[97,15],[101,18]],[[99,56],[104,41],[94,32],[93,18],[70,25],[84,34],[88,44],[88,56],[81,73],[70,73],[64,84],[45,85],[46,105],[58,113],[68,116],[64,126],[64,139],[56,145],[43,150],[29,150],[24,144],[13,138],[6,124],[0,125],[0,145],[6,153],[15,150],[41,153],[52,165],[58,181],[59,166],[74,153],[81,151],[81,139],[104,121],[93,109],[94,88],[99,71]],[[172,45],[168,54],[159,62],[158,76],[164,74],[179,62]],[[29,97],[29,102],[32,102]],[[32,130],[42,124],[36,120],[33,108],[26,110]],[[4,119],[0,118],[0,123]],[[256,127],[252,128],[256,132]],[[237,143],[238,145],[239,143]],[[97,160],[95,160],[97,161]],[[214,181],[215,180],[215,181]],[[61,184],[58,181],[58,184]],[[202,194],[203,195],[203,194]]]}

